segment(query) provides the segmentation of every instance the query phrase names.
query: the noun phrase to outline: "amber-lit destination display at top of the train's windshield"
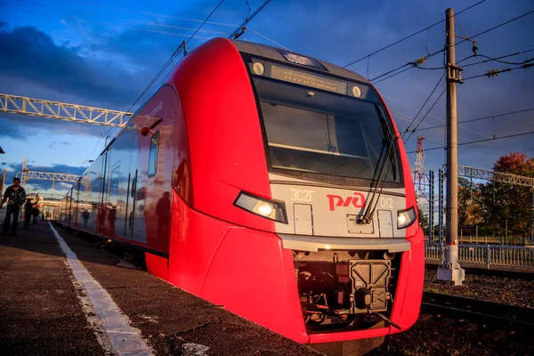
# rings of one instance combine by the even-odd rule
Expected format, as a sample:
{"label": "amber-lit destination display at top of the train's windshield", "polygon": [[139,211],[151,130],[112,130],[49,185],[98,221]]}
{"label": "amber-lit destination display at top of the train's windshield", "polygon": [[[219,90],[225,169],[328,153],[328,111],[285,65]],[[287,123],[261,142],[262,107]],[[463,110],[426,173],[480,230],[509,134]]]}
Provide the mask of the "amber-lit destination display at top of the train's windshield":
{"label": "amber-lit destination display at top of the train's windshield", "polygon": [[314,76],[310,73],[301,72],[294,69],[271,66],[271,78],[283,80],[298,85],[310,86],[312,88],[327,90],[334,93],[347,93],[347,84],[325,77]]}

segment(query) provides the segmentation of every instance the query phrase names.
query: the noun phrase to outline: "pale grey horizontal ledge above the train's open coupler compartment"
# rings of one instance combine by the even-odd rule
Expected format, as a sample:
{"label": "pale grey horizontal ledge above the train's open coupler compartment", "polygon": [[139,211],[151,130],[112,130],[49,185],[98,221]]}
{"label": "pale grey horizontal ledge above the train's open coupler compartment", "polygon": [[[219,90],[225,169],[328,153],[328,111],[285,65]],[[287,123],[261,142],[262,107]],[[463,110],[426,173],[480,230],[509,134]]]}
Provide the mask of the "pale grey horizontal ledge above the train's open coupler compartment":
{"label": "pale grey horizontal ledge above the train's open coupler compartment", "polygon": [[355,239],[330,238],[323,236],[299,236],[278,234],[282,246],[298,251],[327,250],[387,250],[388,252],[409,251],[411,244],[407,239]]}

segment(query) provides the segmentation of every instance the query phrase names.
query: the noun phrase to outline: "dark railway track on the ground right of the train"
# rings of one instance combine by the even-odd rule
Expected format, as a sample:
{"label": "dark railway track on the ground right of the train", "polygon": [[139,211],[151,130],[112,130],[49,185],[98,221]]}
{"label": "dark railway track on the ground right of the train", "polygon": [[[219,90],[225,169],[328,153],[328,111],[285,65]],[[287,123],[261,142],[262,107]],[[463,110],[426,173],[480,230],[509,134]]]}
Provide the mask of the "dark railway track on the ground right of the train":
{"label": "dark railway track on the ground right of the train", "polygon": [[424,292],[422,312],[507,331],[534,332],[534,309]]}

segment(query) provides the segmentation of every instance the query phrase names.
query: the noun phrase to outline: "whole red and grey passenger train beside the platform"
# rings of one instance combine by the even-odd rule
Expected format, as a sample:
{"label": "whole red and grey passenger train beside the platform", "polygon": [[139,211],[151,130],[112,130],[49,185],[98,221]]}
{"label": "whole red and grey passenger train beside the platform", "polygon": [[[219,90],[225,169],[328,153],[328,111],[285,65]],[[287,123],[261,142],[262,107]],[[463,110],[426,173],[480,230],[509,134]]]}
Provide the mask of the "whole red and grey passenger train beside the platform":
{"label": "whole red and grey passenger train beside the platform", "polygon": [[368,80],[262,44],[189,53],[61,202],[148,271],[300,343],[416,320],[423,233]]}

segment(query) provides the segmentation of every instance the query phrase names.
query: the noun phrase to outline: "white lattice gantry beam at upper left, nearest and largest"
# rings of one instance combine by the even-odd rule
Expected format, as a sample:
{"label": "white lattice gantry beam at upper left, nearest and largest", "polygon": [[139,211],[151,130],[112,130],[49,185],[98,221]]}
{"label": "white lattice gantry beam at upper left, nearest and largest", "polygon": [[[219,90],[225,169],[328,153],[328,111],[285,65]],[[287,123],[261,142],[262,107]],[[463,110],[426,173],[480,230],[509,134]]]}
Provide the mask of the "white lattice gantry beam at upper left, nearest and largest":
{"label": "white lattice gantry beam at upper left, nearest and largest", "polygon": [[0,93],[0,112],[112,127],[123,127],[133,115],[131,112],[92,108],[3,93]]}

